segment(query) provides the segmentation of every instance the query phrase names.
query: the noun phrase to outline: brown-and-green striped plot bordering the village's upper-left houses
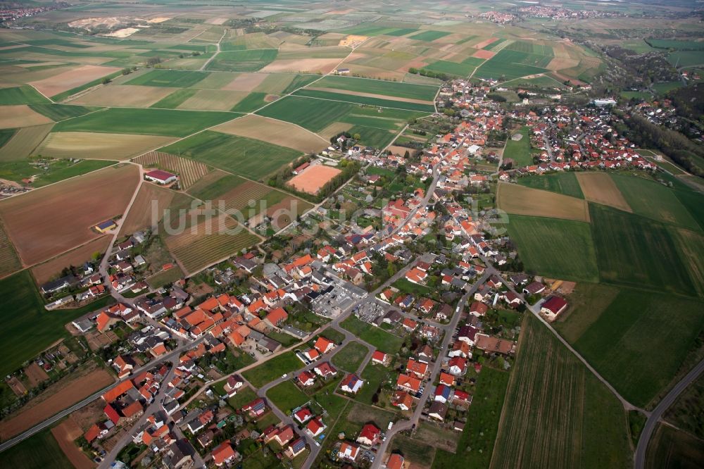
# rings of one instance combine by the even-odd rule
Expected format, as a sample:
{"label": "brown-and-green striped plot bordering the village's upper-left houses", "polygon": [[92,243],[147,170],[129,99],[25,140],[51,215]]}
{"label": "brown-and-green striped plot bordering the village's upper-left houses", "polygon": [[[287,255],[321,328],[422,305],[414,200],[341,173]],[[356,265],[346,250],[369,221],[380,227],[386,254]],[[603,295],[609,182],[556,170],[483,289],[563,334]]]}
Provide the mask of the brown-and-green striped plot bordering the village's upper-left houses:
{"label": "brown-and-green striped plot bordering the village's upper-left houses", "polygon": [[[229,230],[233,232],[230,233]],[[171,254],[187,273],[194,273],[256,244],[259,238],[237,225],[237,222],[227,215],[220,215],[213,219],[212,223],[199,223],[180,235],[167,237],[165,241]]]}

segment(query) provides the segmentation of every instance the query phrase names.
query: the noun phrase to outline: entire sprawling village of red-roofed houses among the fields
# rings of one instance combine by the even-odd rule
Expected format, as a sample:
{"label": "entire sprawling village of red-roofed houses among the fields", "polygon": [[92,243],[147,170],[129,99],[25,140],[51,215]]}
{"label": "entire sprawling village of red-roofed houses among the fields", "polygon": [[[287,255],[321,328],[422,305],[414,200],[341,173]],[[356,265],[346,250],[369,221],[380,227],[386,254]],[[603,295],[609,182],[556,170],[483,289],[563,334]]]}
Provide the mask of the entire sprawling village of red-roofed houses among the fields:
{"label": "entire sprawling village of red-roofed houses among the fields", "polygon": [[[158,239],[139,231],[43,284],[47,308],[116,300],[70,325],[117,380],[91,405],[81,451],[101,468],[275,455],[296,468],[398,469],[408,463],[395,435],[461,434],[482,368],[511,368],[523,315],[553,322],[574,288],[523,272],[495,223],[497,183],[657,168],[616,134],[608,107],[506,111],[490,92],[442,87],[439,104],[458,118],[424,149],[348,147],[342,135],[326,157],[357,161],[357,175],[260,249],[195,277],[175,276]],[[532,161],[505,156],[521,138]],[[51,370],[50,357],[30,368]],[[23,374],[12,378],[20,387]],[[370,418],[342,422],[350,406]]]}

